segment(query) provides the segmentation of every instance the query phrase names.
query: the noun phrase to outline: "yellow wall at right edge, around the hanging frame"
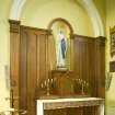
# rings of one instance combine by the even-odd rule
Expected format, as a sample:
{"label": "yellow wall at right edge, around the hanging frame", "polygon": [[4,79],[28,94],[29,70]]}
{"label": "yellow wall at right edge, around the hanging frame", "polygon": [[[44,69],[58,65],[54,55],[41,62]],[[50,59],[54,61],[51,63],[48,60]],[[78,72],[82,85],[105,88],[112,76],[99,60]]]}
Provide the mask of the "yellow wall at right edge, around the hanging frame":
{"label": "yellow wall at right edge, around the hanging frame", "polygon": [[[111,57],[110,55],[110,27],[115,26],[115,0],[106,0],[106,61],[108,71],[108,62],[115,60],[115,56]],[[110,90],[106,91],[106,115],[115,114],[115,73],[113,73],[112,83]]]}

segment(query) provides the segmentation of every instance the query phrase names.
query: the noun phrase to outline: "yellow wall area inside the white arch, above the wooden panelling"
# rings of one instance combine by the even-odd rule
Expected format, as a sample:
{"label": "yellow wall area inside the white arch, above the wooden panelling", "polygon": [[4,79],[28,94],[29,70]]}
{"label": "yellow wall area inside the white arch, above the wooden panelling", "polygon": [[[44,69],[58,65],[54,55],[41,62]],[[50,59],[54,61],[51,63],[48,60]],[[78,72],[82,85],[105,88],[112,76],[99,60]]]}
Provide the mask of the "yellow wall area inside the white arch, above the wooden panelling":
{"label": "yellow wall area inside the white arch, above the wooden panelling", "polygon": [[76,0],[26,2],[20,19],[24,25],[47,28],[50,21],[56,18],[66,19],[72,25],[74,33],[94,36],[90,18]]}

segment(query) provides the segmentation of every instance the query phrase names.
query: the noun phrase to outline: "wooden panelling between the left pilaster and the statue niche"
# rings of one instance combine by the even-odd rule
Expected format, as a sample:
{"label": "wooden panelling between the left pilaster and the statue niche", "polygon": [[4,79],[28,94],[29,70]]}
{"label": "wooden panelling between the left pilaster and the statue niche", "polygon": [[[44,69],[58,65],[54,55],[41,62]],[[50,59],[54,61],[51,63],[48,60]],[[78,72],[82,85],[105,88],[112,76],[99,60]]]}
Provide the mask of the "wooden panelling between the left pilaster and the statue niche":
{"label": "wooden panelling between the left pilaster and the statue niche", "polygon": [[38,82],[48,76],[47,35],[44,30],[21,26],[20,108],[35,115],[35,91]]}

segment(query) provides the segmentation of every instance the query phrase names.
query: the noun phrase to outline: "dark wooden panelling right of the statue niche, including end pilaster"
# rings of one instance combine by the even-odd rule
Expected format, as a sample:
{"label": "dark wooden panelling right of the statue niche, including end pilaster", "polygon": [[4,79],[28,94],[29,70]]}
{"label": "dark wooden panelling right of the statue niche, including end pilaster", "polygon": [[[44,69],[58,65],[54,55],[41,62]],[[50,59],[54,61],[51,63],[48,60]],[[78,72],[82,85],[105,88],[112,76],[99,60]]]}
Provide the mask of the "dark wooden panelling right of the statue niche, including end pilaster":
{"label": "dark wooden panelling right of the statue niche, including end pilaster", "polygon": [[73,35],[71,38],[71,68],[76,78],[89,83],[91,96],[105,96],[104,42],[104,37]]}

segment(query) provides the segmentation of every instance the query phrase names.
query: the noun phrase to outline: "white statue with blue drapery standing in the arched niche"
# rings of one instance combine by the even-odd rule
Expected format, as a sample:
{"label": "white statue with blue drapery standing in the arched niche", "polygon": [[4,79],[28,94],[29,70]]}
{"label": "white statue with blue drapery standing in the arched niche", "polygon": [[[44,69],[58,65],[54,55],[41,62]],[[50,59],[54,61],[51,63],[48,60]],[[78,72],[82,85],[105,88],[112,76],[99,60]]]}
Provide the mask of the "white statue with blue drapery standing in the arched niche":
{"label": "white statue with blue drapery standing in the arched niche", "polygon": [[57,67],[66,66],[66,61],[65,61],[66,51],[67,51],[67,39],[64,33],[60,31],[56,41]]}

